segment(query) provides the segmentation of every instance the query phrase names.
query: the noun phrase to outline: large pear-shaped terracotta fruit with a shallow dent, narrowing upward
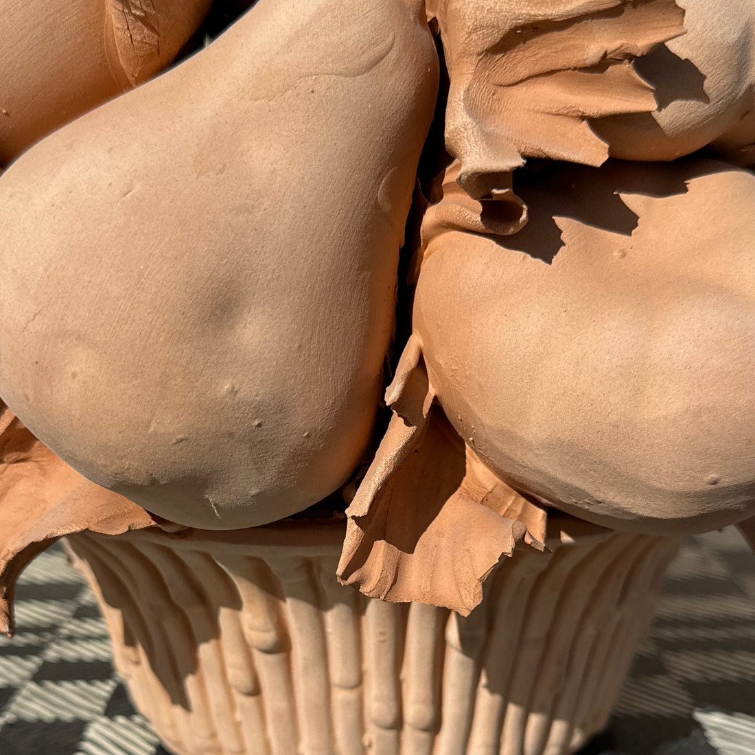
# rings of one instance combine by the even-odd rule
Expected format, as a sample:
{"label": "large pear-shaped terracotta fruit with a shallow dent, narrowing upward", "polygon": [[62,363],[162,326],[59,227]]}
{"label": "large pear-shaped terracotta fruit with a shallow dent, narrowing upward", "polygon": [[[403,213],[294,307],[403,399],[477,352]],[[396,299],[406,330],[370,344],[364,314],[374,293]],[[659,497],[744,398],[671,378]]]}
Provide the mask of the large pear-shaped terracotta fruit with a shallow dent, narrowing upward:
{"label": "large pear-shaped terracotta fruit with a shallow dent, narrowing upward", "polygon": [[0,180],[0,395],[183,524],[333,492],[372,430],[437,75],[420,2],[262,0],[39,143]]}

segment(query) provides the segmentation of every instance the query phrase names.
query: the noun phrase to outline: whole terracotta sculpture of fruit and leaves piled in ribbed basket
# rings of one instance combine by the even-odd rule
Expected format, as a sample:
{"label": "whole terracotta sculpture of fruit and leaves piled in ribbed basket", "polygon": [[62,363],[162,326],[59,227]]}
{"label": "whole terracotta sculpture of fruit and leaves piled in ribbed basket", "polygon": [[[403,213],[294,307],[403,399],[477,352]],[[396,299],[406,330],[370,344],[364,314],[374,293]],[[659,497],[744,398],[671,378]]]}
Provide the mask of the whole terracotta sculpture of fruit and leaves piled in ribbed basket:
{"label": "whole terracotta sculpture of fruit and leaves piled in ribbed basket", "polygon": [[[755,541],[751,4],[305,5],[260,0],[0,178],[0,620],[13,630],[14,578],[51,540],[117,535],[71,547],[177,752],[570,752],[618,692],[597,678],[584,692],[579,662],[597,652],[621,678],[679,536],[741,523]],[[36,47],[41,11],[14,11],[11,37],[38,57],[0,61],[18,71],[0,162],[162,69],[208,3],[93,8]],[[45,83],[71,44],[65,86]],[[426,138],[433,112],[442,143]],[[702,147],[727,162],[676,160]],[[328,497],[335,524],[247,531]],[[408,619],[336,572],[412,602]],[[144,584],[164,602],[142,609]],[[478,625],[485,598],[508,612],[515,588],[562,627],[542,661],[568,677],[560,701],[526,670],[475,676],[515,652]],[[581,607],[539,609],[542,595]],[[606,624],[615,642],[566,639],[632,615],[627,595],[645,602]],[[428,655],[404,698],[362,709],[335,661],[307,676],[307,658],[351,652],[357,602],[381,617],[362,634],[385,684],[368,670],[365,689],[396,683],[416,627],[445,627],[433,653],[467,660],[441,672]],[[179,627],[180,658],[159,652],[153,615]],[[442,704],[440,673],[457,680]],[[271,690],[285,715],[259,702]],[[318,695],[366,733],[347,717],[308,729]]]}

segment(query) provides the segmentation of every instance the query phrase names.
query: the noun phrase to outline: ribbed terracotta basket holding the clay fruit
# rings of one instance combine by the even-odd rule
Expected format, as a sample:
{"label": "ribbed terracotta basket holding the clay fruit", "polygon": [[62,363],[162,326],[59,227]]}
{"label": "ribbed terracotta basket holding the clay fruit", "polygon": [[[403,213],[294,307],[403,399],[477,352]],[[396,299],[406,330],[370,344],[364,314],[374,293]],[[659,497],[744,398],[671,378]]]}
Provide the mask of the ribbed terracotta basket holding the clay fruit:
{"label": "ribbed terracotta basket holding the clay fruit", "polygon": [[599,732],[679,541],[552,519],[468,618],[341,587],[343,522],[69,538],[180,755],[562,755]]}

